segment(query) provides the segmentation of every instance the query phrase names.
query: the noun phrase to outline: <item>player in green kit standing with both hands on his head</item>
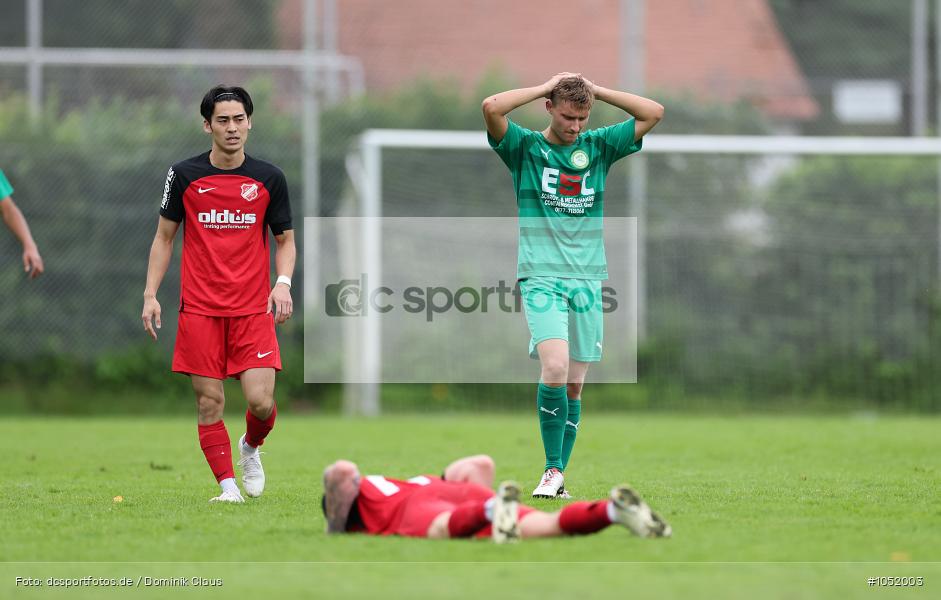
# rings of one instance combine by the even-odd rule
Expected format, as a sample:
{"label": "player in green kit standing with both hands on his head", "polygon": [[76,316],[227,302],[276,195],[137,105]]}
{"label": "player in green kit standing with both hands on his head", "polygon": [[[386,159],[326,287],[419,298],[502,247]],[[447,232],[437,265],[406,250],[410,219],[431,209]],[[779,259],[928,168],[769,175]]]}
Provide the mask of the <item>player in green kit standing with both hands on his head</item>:
{"label": "player in green kit standing with both hands on his head", "polygon": [[[507,118],[543,98],[550,117],[544,130]],[[627,119],[588,130],[595,99],[620,108]],[[588,366],[601,360],[605,176],[616,160],[641,149],[663,106],[579,73],[559,73],[542,85],[490,96],[482,108],[490,145],[513,176],[517,279],[532,334],[530,356],[542,366],[536,408],[546,464],[533,496],[568,497],[563,473],[581,421],[582,387]]]}

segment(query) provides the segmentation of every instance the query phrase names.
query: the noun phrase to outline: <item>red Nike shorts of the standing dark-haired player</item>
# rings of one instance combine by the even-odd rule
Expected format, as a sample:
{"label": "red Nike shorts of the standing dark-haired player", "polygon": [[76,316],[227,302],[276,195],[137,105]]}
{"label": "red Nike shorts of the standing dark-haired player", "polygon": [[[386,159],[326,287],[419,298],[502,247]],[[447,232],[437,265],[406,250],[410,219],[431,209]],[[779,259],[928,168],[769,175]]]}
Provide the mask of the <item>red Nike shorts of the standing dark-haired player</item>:
{"label": "red Nike shorts of the standing dark-haired player", "polygon": [[180,313],[174,372],[225,379],[259,367],[281,370],[273,314],[207,317]]}

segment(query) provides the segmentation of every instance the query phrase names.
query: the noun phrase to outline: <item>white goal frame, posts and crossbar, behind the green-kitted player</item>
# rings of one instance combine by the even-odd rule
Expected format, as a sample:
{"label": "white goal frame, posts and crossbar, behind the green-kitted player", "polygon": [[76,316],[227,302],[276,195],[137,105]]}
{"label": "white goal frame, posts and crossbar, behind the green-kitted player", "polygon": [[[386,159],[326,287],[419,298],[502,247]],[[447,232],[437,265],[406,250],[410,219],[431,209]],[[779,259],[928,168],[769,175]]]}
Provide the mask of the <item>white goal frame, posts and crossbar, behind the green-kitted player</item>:
{"label": "white goal frame, posts and crossbar, behind the green-kitted player", "polygon": [[[489,151],[483,131],[429,131],[404,129],[370,129],[359,137],[359,143],[347,155],[346,171],[353,183],[356,210],[362,219],[362,230],[357,232],[362,264],[376,281],[382,276],[382,231],[379,220],[383,215],[382,163],[387,149],[484,150]],[[760,156],[927,156],[941,159],[941,138],[927,137],[806,137],[806,136],[723,136],[723,135],[650,135],[644,140],[644,154],[707,154],[707,155],[760,155]],[[639,155],[642,156],[642,155]],[[636,160],[636,159],[634,159]],[[636,171],[635,171],[636,173]],[[643,178],[641,178],[643,180]],[[941,190],[941,161],[938,169]],[[509,182],[507,183],[509,185]],[[610,186],[609,186],[610,187]],[[638,217],[637,274],[638,320],[644,318],[644,237],[645,185],[630,189],[632,212]],[[941,198],[941,194],[939,194]],[[941,211],[939,211],[941,215]],[[939,216],[941,230],[941,216]],[[941,244],[939,244],[941,263]],[[364,317],[359,330],[357,346],[360,352],[346,353],[349,372],[358,373],[358,380],[370,381],[359,385],[346,385],[344,412],[376,416],[381,411],[378,382],[382,369],[381,327],[375,313]],[[641,326],[642,327],[642,326]]]}

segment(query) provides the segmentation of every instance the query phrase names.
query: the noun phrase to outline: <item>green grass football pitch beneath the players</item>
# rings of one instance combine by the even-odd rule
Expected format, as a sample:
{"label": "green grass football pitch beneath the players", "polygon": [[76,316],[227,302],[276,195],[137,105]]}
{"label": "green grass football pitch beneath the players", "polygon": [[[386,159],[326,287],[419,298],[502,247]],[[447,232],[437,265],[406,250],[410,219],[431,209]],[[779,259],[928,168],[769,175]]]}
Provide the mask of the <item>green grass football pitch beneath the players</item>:
{"label": "green grass football pitch beneath the players", "polygon": [[[320,475],[340,457],[409,477],[484,452],[498,479],[534,486],[534,416],[282,415],[264,446],[265,495],[227,506],[207,503],[217,487],[195,417],[0,419],[0,598],[941,597],[938,418],[586,408],[566,487],[593,499],[627,481],[672,539],[614,527],[507,546],[324,534]],[[231,412],[233,440],[242,427]],[[62,587],[83,577],[117,585]],[[892,577],[924,579],[895,589],[909,580]]]}

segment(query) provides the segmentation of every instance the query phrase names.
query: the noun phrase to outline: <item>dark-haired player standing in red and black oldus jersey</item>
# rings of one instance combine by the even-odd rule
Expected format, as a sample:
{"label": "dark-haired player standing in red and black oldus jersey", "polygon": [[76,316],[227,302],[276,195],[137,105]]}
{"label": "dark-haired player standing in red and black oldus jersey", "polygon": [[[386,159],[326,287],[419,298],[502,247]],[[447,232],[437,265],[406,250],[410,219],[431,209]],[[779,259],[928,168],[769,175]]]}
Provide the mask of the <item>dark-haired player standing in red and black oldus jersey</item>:
{"label": "dark-haired player standing in red and black oldus jersey", "polygon": [[[212,149],[167,173],[157,235],[144,289],[144,329],[157,339],[157,289],[183,223],[179,327],[173,371],[190,376],[199,410],[199,444],[221,494],[211,502],[244,502],[235,482],[229,433],[222,421],[222,380],[242,382],[248,404],[239,439],[245,492],[258,497],[265,472],[258,447],[274,426],[275,371],[281,353],[275,324],[291,317],[291,274],[297,251],[284,173],[245,154],[252,99],[240,87],[217,86],[199,111]],[[275,239],[277,279],[271,285],[268,229]]]}

